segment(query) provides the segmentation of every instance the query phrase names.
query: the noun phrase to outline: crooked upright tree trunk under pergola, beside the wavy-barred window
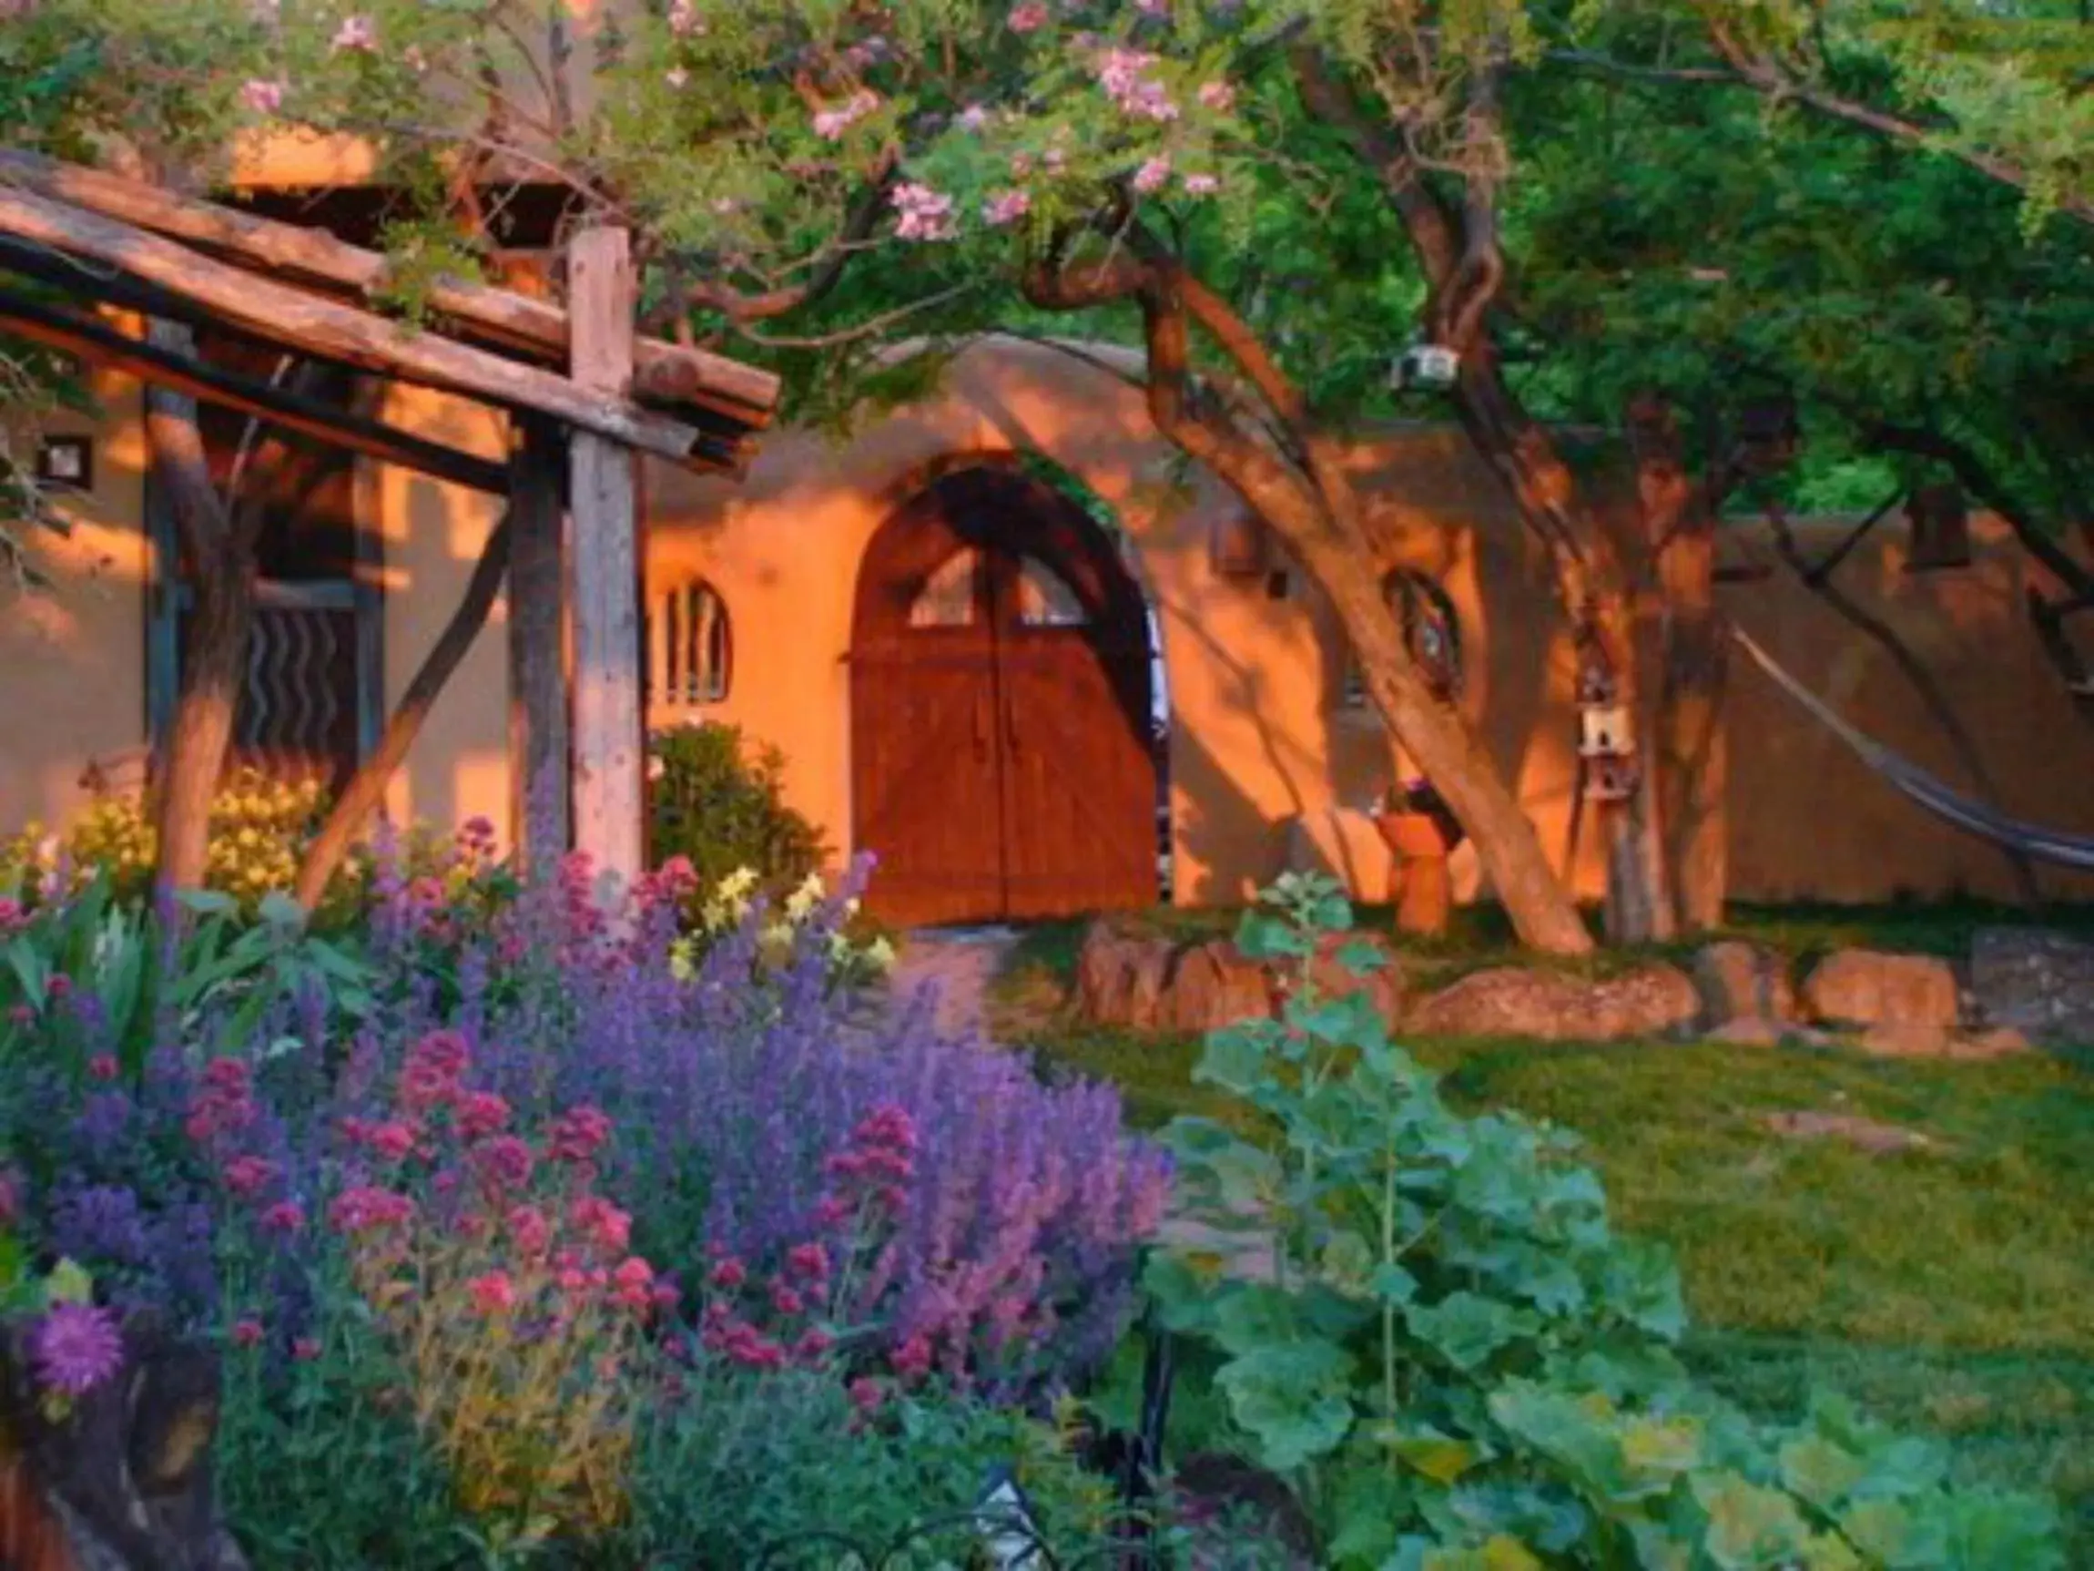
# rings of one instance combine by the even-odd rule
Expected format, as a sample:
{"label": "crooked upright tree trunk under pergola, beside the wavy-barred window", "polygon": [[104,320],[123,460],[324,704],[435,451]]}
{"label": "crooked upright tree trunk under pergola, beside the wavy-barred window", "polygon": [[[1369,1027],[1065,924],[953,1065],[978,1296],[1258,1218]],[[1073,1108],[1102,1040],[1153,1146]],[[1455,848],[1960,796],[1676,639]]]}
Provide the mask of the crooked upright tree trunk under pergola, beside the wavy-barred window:
{"label": "crooked upright tree trunk under pergola, beside the wavy-barred window", "polygon": [[[186,327],[153,323],[157,348],[193,356]],[[211,488],[197,425],[197,400],[168,388],[144,392],[147,444],[153,484],[174,511],[182,553],[188,555],[193,593],[188,637],[182,641],[182,687],[168,729],[157,788],[159,871],[163,892],[203,886],[209,859],[211,798],[232,742],[253,620],[255,559]],[[180,555],[161,561],[163,593],[182,584]]]}

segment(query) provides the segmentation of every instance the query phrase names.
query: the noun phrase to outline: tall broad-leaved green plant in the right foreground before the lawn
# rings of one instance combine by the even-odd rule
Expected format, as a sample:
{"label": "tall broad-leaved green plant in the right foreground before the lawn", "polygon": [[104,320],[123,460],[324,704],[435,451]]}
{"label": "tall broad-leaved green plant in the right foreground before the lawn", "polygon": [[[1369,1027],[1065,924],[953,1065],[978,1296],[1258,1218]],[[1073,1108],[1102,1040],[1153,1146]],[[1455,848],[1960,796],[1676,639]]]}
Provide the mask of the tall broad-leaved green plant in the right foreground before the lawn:
{"label": "tall broad-leaved green plant in the right foreground before the lawn", "polygon": [[1196,1070],[1258,1121],[1171,1125],[1202,1238],[1150,1286],[1221,1355],[1233,1426],[1294,1481],[1323,1565],[2063,1565],[2046,1498],[1954,1489],[1937,1447],[1834,1403],[1769,1429],[1696,1387],[1671,1261],[1612,1234],[1577,1142],[1453,1112],[1365,995],[1317,989],[1319,938],[1351,926],[1336,886],[1271,899],[1238,943],[1286,972],[1284,1018],[1215,1033]]}

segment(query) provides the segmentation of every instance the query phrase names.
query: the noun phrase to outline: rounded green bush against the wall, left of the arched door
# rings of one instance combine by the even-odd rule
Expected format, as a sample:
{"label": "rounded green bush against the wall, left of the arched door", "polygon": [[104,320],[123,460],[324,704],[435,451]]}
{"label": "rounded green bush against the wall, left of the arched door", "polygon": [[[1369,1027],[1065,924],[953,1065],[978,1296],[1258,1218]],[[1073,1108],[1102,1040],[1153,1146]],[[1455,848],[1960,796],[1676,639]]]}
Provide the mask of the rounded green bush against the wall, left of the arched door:
{"label": "rounded green bush against the wall, left of the arched door", "polygon": [[785,756],[735,725],[683,725],[651,742],[647,859],[685,857],[710,890],[748,867],[783,894],[827,859],[821,829],[785,804]]}

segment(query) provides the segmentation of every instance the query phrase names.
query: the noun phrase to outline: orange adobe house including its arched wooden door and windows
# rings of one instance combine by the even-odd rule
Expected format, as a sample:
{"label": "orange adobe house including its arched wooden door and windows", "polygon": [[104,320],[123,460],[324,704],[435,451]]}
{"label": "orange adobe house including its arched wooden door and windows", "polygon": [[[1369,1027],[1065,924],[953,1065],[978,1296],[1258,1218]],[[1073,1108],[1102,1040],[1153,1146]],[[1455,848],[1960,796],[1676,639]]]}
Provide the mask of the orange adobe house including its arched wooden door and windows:
{"label": "orange adobe house including its arched wooden door and windows", "polygon": [[[0,616],[0,823],[61,821],[90,765],[136,777],[168,691],[163,549],[149,526],[136,383],[105,377],[71,538],[38,543],[59,580]],[[498,457],[500,417],[396,388],[389,415]],[[917,920],[1039,915],[1158,897],[1235,903],[1315,861],[1378,899],[1386,855],[1363,809],[1390,781],[1380,725],[1346,681],[1313,589],[1231,557],[1238,503],[1173,478],[1135,390],[1051,346],[982,341],[942,392],[852,440],[764,438],[743,480],[649,463],[647,725],[729,721],[777,744],[796,806],[842,853],[882,857],[875,903]],[[1359,452],[1386,566],[1436,584],[1460,702],[1483,725],[1545,846],[1598,894],[1596,834],[1573,832],[1568,637],[1539,559],[1451,429],[1393,429]],[[498,503],[354,459],[316,517],[348,584],[333,630],[266,620],[241,744],[354,762],[450,616]],[[1826,551],[1841,522],[1801,528]],[[1841,587],[1933,672],[2017,817],[2094,829],[2094,739],[2027,626],[2033,572],[1973,522],[1970,566],[1910,572],[1897,522]],[[1240,553],[1238,553],[1240,555]],[[1736,528],[1725,559],[1772,561]],[[322,563],[325,568],[325,563]],[[312,582],[322,568],[308,572]],[[320,578],[320,582],[335,582]],[[1891,656],[1792,574],[1723,589],[1784,666],[1874,737],[1970,790]],[[509,827],[503,610],[438,702],[389,813]],[[1150,746],[1154,718],[1162,746]],[[2010,897],[2000,853],[1899,798],[1744,662],[1732,674],[1728,844],[1738,899]],[[2046,871],[2052,894],[2086,894]],[[1468,853],[1457,897],[1474,897]]]}

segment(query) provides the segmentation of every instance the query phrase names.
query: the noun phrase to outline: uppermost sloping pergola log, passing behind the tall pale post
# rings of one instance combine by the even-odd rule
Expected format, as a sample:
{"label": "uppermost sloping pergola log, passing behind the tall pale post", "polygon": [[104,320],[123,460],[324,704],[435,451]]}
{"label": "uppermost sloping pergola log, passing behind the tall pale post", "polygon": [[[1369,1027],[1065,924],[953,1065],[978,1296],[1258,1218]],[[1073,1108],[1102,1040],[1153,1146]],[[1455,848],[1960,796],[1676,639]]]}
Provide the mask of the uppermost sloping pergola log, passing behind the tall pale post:
{"label": "uppermost sloping pergola log, passing behind the tall pale post", "polygon": [[[140,180],[61,163],[38,153],[0,149],[0,182],[186,241],[291,281],[358,297],[375,295],[392,276],[392,264],[383,253],[348,245],[325,230],[178,197]],[[553,367],[567,358],[567,312],[544,300],[440,276],[429,291],[429,306],[452,318],[465,337],[521,350]],[[779,379],[725,354],[666,339],[637,339],[632,396],[697,404],[739,425],[762,427],[777,411]]]}

